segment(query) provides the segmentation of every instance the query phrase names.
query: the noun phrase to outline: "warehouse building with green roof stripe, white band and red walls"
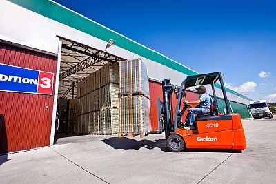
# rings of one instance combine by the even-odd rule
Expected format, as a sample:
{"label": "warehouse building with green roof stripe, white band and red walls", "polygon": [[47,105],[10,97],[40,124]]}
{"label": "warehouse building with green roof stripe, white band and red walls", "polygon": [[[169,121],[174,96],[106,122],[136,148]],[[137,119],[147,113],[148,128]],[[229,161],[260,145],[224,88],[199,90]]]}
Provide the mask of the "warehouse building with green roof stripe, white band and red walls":
{"label": "warehouse building with green roof stripe, white band and red walls", "polygon": [[[161,81],[180,85],[198,74],[53,1],[0,1],[0,7],[0,71],[6,71],[0,76],[5,82],[0,86],[0,154],[54,144],[58,98],[75,99],[78,83],[106,63],[144,62],[153,131],[160,128]],[[107,48],[110,39],[115,43]],[[233,112],[250,117],[251,99],[226,90]],[[216,93],[222,97],[219,86]],[[193,89],[187,96],[198,98]],[[224,101],[218,103],[224,112]]]}

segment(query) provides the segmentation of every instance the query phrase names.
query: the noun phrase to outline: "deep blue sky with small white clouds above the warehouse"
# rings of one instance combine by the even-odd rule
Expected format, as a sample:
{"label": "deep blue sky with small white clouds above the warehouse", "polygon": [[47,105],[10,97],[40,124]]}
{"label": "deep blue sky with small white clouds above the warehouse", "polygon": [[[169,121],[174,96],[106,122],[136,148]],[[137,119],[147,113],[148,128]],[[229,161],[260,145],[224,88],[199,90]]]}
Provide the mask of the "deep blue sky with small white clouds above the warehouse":
{"label": "deep blue sky with small white clouds above the warehouse", "polygon": [[252,99],[276,101],[276,1],[57,3],[199,73],[221,71]]}

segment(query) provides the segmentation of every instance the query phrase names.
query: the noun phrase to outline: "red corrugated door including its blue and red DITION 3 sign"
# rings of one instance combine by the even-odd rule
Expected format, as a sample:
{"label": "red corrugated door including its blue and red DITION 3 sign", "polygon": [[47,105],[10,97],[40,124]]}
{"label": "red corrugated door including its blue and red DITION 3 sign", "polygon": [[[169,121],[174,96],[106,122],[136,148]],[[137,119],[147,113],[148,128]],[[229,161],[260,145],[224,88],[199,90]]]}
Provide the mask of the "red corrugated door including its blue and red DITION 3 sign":
{"label": "red corrugated door including its blue and red DITION 3 sign", "polygon": [[0,154],[49,145],[57,57],[0,43],[0,67]]}

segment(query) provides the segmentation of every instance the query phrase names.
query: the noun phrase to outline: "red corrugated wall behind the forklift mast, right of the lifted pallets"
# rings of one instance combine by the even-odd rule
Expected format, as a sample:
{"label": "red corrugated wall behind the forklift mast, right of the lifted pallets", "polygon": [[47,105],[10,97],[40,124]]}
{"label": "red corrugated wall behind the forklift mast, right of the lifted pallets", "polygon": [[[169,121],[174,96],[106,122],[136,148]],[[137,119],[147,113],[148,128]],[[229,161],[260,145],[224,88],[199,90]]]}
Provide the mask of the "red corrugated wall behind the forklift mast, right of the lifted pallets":
{"label": "red corrugated wall behind the forklift mast, right of the lifted pallets", "polygon": [[[162,84],[150,81],[150,121],[152,131],[158,131],[158,116],[157,116],[157,98],[160,98],[163,101],[162,96]],[[179,84],[180,85],[180,84]],[[199,99],[199,95],[196,92],[186,91],[186,99],[188,101],[196,101]],[[177,97],[175,93],[172,94],[172,107],[173,109],[173,116],[175,116],[175,106],[177,105]],[[182,104],[183,107],[183,104]],[[186,113],[183,117],[186,117]],[[184,120],[184,118],[183,118]]]}

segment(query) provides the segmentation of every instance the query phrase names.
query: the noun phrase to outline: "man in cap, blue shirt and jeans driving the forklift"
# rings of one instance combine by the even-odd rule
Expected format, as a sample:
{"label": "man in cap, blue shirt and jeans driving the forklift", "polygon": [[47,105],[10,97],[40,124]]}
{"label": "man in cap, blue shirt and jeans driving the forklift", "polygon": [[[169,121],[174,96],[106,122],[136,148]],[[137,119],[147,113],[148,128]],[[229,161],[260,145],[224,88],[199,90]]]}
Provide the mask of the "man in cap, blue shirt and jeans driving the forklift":
{"label": "man in cap, blue shirt and jeans driving the forklift", "polygon": [[195,126],[195,114],[206,114],[210,113],[210,107],[212,103],[212,99],[208,93],[206,93],[206,88],[203,85],[200,85],[197,89],[197,92],[201,94],[200,99],[197,101],[185,101],[188,105],[199,105],[199,108],[190,108],[188,110],[188,116],[186,118],[185,130],[193,130]]}

